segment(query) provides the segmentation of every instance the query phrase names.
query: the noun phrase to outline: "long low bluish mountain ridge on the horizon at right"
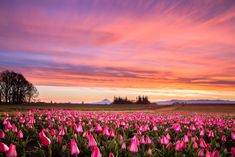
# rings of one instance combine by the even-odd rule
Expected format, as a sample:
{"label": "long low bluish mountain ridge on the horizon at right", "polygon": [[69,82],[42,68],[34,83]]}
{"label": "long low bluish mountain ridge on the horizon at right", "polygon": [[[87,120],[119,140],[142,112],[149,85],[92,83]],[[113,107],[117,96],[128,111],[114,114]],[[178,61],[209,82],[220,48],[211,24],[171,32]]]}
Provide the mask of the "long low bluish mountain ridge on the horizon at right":
{"label": "long low bluish mountain ridge on the horizon at right", "polygon": [[235,104],[231,100],[169,100],[155,102],[158,105],[173,105],[173,104]]}

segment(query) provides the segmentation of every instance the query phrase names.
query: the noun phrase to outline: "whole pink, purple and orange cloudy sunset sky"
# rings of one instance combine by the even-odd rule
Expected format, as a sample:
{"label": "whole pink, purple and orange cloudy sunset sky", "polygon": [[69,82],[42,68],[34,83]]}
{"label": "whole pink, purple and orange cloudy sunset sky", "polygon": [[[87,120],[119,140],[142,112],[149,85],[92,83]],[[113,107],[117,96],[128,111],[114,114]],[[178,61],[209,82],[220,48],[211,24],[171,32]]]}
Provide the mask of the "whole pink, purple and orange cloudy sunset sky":
{"label": "whole pink, purple and orange cloudy sunset sky", "polygon": [[41,101],[235,100],[235,1],[1,0],[6,69]]}

